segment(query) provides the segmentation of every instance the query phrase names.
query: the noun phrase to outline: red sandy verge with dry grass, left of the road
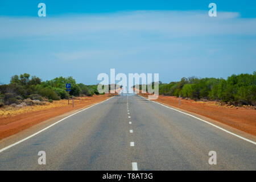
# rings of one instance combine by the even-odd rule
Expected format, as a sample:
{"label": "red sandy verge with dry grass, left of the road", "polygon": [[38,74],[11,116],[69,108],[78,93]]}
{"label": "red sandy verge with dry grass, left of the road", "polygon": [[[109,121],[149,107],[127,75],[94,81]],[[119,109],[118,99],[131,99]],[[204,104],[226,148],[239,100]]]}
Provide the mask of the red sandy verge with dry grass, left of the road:
{"label": "red sandy verge with dry grass, left of the road", "polygon": [[[57,115],[104,101],[110,96],[112,95],[104,94],[92,97],[81,97],[79,100],[75,100],[75,107],[72,107],[72,101],[70,101],[69,105],[67,100],[53,101],[52,104],[41,106],[42,108],[40,107],[40,110],[34,108],[35,111],[26,111],[26,113],[21,114],[8,113],[9,115],[7,116],[0,116],[0,140],[24,129],[28,129],[40,122],[46,121],[49,118],[56,117]],[[67,105],[64,105],[63,102]],[[28,107],[33,109],[34,106]]]}

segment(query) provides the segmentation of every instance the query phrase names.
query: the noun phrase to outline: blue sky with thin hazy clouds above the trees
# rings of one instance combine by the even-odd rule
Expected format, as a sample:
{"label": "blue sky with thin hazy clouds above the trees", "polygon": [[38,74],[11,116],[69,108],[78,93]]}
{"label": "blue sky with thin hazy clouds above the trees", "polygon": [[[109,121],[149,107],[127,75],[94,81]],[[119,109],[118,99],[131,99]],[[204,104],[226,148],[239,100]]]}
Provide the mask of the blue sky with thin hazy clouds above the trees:
{"label": "blue sky with thin hazy clouds above the trees", "polygon": [[[38,17],[38,3],[47,16]],[[208,5],[217,5],[217,17]],[[256,1],[0,1],[0,82],[30,73],[224,77],[256,68]]]}

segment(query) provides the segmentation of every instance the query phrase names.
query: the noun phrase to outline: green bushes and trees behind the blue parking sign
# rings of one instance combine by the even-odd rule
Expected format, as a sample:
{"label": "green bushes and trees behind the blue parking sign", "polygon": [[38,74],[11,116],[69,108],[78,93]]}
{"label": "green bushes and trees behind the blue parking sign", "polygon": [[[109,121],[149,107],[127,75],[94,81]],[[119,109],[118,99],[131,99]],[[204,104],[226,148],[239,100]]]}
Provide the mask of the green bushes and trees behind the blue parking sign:
{"label": "green bushes and trees behind the blue parking sign", "polygon": [[23,100],[49,101],[67,99],[65,84],[71,84],[70,96],[93,96],[99,94],[97,85],[77,84],[73,77],[58,77],[42,81],[39,77],[24,73],[11,77],[10,84],[0,85],[0,107],[3,105],[20,104]]}

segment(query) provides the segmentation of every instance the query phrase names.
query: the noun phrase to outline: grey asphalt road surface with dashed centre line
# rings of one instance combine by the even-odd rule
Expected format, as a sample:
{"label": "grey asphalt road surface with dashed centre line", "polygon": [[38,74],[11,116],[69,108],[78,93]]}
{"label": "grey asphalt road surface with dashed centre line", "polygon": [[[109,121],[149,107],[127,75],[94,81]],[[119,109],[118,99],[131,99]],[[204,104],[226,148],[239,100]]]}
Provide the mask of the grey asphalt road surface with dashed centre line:
{"label": "grey asphalt road surface with dashed centre line", "polygon": [[[38,164],[39,151],[46,165]],[[216,151],[216,165],[208,163],[209,151]],[[256,146],[123,94],[0,153],[0,170],[132,170],[133,162],[139,170],[256,170]]]}

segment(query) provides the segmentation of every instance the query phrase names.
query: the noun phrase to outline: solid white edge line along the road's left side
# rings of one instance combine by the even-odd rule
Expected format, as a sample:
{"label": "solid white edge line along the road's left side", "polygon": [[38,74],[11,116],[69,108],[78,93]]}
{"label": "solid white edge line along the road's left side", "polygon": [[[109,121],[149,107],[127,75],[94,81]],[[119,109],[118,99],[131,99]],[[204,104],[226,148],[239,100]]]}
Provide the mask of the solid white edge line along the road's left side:
{"label": "solid white edge line along the road's left side", "polygon": [[[113,97],[110,97],[110,98],[108,98],[108,99],[105,100],[105,101],[108,101],[108,100],[110,100],[111,98],[113,98]],[[105,102],[105,101],[102,101],[102,102]],[[73,114],[71,114],[71,115],[68,115],[67,117],[65,117],[65,118],[63,118],[63,119],[60,119],[59,121],[53,123],[52,125],[49,125],[49,126],[45,127],[44,129],[42,129],[42,130],[40,130],[40,131],[38,131],[38,132],[36,132],[36,133],[34,133],[34,134],[28,136],[28,137],[23,138],[22,140],[19,140],[18,142],[15,142],[15,143],[11,144],[10,146],[7,146],[7,147],[5,147],[5,148],[2,148],[2,149],[0,150],[0,153],[3,152],[3,151],[5,151],[5,150],[7,150],[7,149],[9,149],[9,148],[11,148],[11,147],[13,147],[13,146],[15,146],[16,144],[22,143],[22,142],[24,142],[25,140],[34,137],[35,135],[37,135],[37,134],[39,134],[39,133],[42,133],[43,131],[49,129],[50,127],[56,125],[57,123],[59,123],[59,122],[65,120],[65,119],[67,119],[67,118],[69,118],[69,117],[72,117],[73,115],[75,115],[75,114],[77,114],[77,113],[80,113],[81,111],[84,111],[84,110],[86,110],[86,109],[89,109],[90,107],[93,107],[93,106],[96,106],[96,105],[98,105],[98,104],[101,104],[102,102],[98,102],[97,104],[94,104],[94,105],[92,105],[92,106],[86,107],[85,109],[82,109],[82,110],[80,110],[80,111],[77,111],[76,113],[73,113]]]}

